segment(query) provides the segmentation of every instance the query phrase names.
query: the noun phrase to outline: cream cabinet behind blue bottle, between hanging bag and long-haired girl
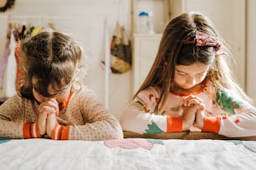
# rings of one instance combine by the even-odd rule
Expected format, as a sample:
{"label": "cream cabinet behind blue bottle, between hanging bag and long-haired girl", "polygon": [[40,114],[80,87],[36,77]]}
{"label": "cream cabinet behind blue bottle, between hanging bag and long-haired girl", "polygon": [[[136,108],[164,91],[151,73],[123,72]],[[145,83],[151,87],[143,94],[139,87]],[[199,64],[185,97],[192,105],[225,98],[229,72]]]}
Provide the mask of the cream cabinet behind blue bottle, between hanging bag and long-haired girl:
{"label": "cream cabinet behind blue bottle, between hanging bag and long-haired girl", "polygon": [[[138,15],[152,13],[154,34],[138,33]],[[161,32],[169,20],[169,0],[132,0],[132,95],[135,94],[155,60]]]}

